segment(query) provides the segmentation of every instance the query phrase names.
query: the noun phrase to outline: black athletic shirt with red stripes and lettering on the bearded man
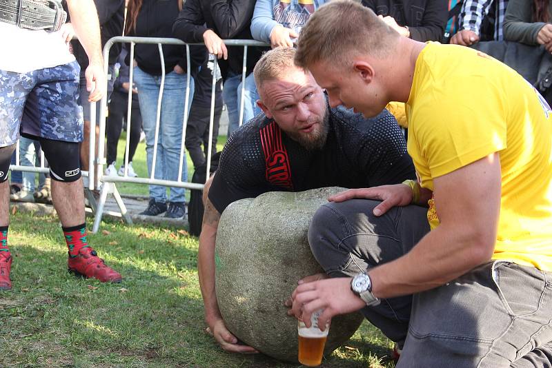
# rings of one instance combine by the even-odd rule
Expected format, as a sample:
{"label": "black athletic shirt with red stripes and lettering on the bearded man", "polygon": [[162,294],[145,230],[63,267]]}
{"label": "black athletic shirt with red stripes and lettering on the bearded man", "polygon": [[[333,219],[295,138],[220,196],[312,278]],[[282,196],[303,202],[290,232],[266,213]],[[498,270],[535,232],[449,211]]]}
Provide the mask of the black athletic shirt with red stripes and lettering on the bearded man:
{"label": "black athletic shirt with red stripes and lettering on the bearded man", "polygon": [[328,139],[321,150],[306,150],[264,114],[232,134],[209,190],[217,211],[265,192],[373,187],[415,178],[404,136],[391,113],[384,110],[364,119],[344,108],[328,109]]}

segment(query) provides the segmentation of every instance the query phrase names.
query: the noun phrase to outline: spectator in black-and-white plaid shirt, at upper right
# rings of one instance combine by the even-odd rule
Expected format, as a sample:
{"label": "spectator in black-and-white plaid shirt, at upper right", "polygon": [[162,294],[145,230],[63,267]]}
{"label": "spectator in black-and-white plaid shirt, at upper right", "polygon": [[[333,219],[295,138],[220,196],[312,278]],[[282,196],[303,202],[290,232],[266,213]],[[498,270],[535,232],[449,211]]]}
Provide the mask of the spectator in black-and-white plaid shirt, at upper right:
{"label": "spectator in black-and-white plaid shirt, at upper right", "polygon": [[508,0],[466,0],[460,12],[460,30],[451,38],[451,43],[469,46],[479,42],[483,19],[489,15],[492,7],[495,13],[493,39],[502,41],[506,6],[508,6]]}

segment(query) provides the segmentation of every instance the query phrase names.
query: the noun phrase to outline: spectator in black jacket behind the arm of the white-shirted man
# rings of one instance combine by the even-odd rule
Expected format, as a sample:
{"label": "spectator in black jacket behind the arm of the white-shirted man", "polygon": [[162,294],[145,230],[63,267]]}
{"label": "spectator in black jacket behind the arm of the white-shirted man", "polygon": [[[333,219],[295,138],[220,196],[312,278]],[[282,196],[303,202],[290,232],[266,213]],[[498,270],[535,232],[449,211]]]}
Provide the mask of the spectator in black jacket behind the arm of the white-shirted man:
{"label": "spectator in black jacket behind the arm of the white-shirted man", "polygon": [[[101,47],[106,44],[108,39],[121,36],[123,34],[124,14],[125,14],[125,0],[94,0],[96,9],[98,12],[100,32],[101,32]],[[81,143],[81,168],[88,171],[88,160],[90,158],[90,101],[88,101],[88,91],[86,90],[86,77],[84,71],[88,67],[88,57],[79,41],[71,41],[73,54],[81,66],[81,80],[80,80],[80,103],[83,109],[84,118],[84,137]],[[117,56],[121,52],[121,43],[115,43],[109,52],[108,61],[108,100],[110,94],[113,91],[113,83],[115,76],[113,75],[115,61]],[[96,103],[96,142],[98,141],[99,134],[99,102]],[[97,148],[96,148],[97,150]]]}

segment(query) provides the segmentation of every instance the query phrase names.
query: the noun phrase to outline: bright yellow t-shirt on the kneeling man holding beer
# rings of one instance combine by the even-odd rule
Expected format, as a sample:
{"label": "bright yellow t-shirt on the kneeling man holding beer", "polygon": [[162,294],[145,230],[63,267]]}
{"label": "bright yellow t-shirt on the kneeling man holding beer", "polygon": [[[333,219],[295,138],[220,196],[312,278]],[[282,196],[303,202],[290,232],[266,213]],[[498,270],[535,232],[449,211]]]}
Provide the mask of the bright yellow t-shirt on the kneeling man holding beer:
{"label": "bright yellow t-shirt on the kneeling man holding beer", "polygon": [[[406,103],[420,185],[500,152],[494,259],[552,271],[552,111],[522,76],[486,54],[428,43]],[[477,183],[473,183],[477,185]],[[433,200],[431,228],[438,225]]]}

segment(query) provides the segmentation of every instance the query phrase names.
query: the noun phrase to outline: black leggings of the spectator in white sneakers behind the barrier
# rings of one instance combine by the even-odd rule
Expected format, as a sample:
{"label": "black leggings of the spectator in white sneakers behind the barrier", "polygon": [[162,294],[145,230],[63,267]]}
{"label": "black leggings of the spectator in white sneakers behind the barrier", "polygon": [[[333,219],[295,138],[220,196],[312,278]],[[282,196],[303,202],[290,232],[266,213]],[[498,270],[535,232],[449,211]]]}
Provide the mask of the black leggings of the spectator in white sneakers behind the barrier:
{"label": "black leggings of the spectator in white sneakers behind the barrier", "polygon": [[[123,119],[126,119],[128,96],[123,92],[113,92],[109,104],[109,115],[106,122],[107,130],[107,162],[108,165],[117,161],[117,144],[123,130]],[[132,114],[130,124],[126,123],[126,128],[130,129],[130,146],[128,147],[128,161],[132,161],[136,152],[136,147],[140,141],[140,131],[142,126],[142,116],[138,99],[132,99]]]}

